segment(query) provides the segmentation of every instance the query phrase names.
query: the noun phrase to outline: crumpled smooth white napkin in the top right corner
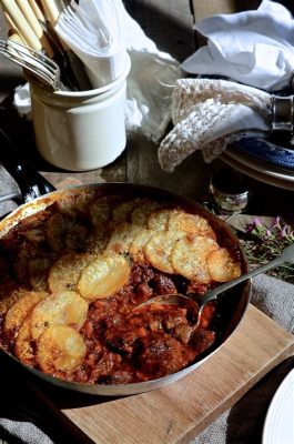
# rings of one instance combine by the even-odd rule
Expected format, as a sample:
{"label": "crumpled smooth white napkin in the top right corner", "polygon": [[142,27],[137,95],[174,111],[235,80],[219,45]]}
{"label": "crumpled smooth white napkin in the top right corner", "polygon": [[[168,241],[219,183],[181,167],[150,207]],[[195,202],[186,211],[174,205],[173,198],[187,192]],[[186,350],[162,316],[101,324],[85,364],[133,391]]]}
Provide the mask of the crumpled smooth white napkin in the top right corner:
{"label": "crumpled smooth white napkin in the top right corner", "polygon": [[282,4],[209,17],[194,27],[207,44],[187,58],[189,73],[217,74],[264,90],[288,85],[294,71],[294,20]]}

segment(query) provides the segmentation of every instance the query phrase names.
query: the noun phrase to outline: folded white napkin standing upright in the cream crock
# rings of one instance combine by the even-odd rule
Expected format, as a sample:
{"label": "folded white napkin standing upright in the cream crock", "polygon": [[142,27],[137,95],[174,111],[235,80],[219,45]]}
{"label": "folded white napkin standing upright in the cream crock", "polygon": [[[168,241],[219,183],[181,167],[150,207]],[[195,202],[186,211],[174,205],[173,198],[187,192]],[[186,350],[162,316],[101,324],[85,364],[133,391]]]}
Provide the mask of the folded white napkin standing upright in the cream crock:
{"label": "folded white napkin standing upright in the cream crock", "polygon": [[128,53],[116,0],[72,0],[59,16],[58,36],[78,56],[93,88],[113,82],[125,70]]}

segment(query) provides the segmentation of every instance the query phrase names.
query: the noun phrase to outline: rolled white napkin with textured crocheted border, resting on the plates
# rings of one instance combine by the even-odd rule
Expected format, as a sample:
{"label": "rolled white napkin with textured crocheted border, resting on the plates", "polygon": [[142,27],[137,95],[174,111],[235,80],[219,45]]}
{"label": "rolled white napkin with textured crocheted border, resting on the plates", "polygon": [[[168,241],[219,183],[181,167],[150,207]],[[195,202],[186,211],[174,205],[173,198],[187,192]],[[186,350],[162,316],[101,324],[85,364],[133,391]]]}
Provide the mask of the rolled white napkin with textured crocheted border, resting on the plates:
{"label": "rolled white napkin with textured crocheted border, resting on the plates", "polygon": [[227,143],[268,134],[271,117],[265,91],[220,79],[180,79],[172,95],[174,128],[160,144],[160,164],[172,172],[196,150],[211,162]]}

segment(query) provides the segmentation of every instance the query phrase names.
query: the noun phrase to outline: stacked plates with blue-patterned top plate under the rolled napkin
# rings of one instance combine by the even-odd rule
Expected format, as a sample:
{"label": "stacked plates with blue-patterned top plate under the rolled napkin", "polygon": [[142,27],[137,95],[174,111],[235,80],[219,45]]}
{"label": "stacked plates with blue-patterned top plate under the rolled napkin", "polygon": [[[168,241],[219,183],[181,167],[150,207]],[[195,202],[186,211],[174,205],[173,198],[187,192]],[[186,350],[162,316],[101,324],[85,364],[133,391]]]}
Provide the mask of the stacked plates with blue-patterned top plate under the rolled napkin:
{"label": "stacked plates with blue-patterned top plate under the rolled napkin", "polygon": [[265,139],[242,139],[221,159],[242,173],[270,185],[294,191],[294,145]]}

